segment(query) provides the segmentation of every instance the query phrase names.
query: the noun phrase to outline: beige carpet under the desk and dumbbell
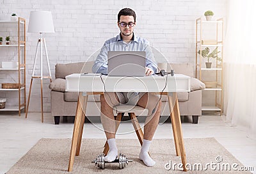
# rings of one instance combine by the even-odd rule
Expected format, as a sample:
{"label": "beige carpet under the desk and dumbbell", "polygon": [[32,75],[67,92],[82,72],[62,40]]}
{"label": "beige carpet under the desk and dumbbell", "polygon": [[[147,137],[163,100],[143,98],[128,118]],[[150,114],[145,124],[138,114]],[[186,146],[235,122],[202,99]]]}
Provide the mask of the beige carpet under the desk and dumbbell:
{"label": "beige carpet under the desk and dumbbell", "polygon": [[[133,162],[127,168],[119,170],[118,164],[106,164],[105,170],[98,169],[91,161],[99,155],[105,139],[83,139],[81,154],[75,158],[74,170],[67,171],[71,139],[40,139],[29,152],[24,155],[8,172],[13,173],[184,173],[177,170],[166,170],[164,165],[169,161],[180,163],[180,157],[175,155],[173,139],[154,139],[150,146],[150,155],[156,165],[148,168],[138,159],[140,143],[138,139],[117,139],[118,150]],[[216,157],[221,156],[223,163],[236,162],[243,166],[214,138],[184,139],[187,162],[190,164],[216,162]],[[221,162],[219,163],[221,164]],[[231,171],[214,171],[209,166],[205,171],[190,170],[186,173],[250,173]]]}

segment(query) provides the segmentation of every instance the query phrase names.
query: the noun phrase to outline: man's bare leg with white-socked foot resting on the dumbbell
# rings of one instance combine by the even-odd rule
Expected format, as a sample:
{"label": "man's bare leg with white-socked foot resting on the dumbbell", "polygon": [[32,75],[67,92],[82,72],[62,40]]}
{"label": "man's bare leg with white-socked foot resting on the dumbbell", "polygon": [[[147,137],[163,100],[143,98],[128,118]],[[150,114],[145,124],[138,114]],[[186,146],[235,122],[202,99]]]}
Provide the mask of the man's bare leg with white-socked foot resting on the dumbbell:
{"label": "man's bare leg with white-socked foot resting on the dumbbell", "polygon": [[109,152],[105,157],[105,161],[114,161],[118,155],[118,149],[115,141],[115,117],[113,114],[113,106],[119,104],[118,97],[115,93],[104,93],[100,95],[100,120],[102,122],[108,145]]}

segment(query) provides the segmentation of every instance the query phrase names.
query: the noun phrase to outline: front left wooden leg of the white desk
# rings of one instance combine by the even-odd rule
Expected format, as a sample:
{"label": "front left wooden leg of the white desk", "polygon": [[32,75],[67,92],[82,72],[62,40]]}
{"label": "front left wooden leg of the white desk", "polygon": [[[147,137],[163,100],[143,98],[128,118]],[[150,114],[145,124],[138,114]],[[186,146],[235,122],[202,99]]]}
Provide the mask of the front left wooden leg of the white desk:
{"label": "front left wooden leg of the white desk", "polygon": [[[81,92],[79,92],[79,96],[80,96],[80,93]],[[76,155],[76,147],[77,147],[77,141],[78,141],[80,126],[81,126],[81,121],[82,121],[82,117],[84,116],[83,109],[81,107],[81,104],[83,104],[83,102],[82,102],[83,100],[80,100],[79,98],[80,97],[78,97],[78,100],[77,100],[76,118],[75,118],[75,123],[74,123],[72,145],[71,145],[71,149],[70,149],[68,171],[73,170],[73,164],[74,164],[75,155]],[[84,97],[82,97],[82,98],[84,98]]]}

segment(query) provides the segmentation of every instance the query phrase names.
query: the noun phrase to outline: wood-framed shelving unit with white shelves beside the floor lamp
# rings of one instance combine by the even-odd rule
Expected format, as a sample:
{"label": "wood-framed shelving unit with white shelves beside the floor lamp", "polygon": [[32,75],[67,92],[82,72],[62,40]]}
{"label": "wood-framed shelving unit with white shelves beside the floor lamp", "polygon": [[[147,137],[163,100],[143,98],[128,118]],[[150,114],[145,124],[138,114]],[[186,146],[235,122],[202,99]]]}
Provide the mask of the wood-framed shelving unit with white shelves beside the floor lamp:
{"label": "wood-framed shelving unit with white shelves beside the floor lamp", "polygon": [[[8,55],[9,50],[8,49],[4,50],[4,47],[5,48],[8,48],[8,47],[17,48],[18,68],[2,68],[1,67],[0,72],[1,72],[1,74],[6,74],[6,71],[13,71],[12,74],[18,75],[17,82],[15,82],[15,83],[19,84],[19,88],[17,88],[17,89],[0,88],[1,92],[18,93],[18,97],[17,97],[18,106],[8,105],[6,102],[6,107],[4,109],[0,109],[0,111],[19,111],[19,116],[20,116],[20,112],[22,109],[24,109],[24,112],[26,112],[26,19],[19,17],[18,21],[0,20],[1,28],[3,27],[4,24],[6,24],[8,27],[12,26],[10,28],[17,28],[18,42],[13,45],[12,45],[12,41],[11,41],[10,45],[6,45],[3,43],[3,45],[0,45],[0,51],[1,52],[6,51],[6,55]],[[8,31],[8,33],[13,32],[12,29],[7,29],[6,31]],[[1,31],[0,31],[0,35],[1,35]],[[2,59],[1,61],[4,61],[4,60]],[[3,83],[3,82],[1,82],[1,83]]]}

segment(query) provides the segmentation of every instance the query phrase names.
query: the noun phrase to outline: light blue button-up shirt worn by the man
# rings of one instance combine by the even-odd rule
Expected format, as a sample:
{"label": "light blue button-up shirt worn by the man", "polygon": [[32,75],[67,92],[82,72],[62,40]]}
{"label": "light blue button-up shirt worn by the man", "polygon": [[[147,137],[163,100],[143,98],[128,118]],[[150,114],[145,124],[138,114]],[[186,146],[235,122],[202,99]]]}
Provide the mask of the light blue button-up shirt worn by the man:
{"label": "light blue button-up shirt worn by the man", "polygon": [[146,65],[145,67],[157,72],[157,64],[150,48],[149,42],[144,38],[140,38],[133,33],[133,40],[126,43],[120,35],[107,40],[100,50],[97,59],[94,61],[92,72],[100,74],[108,74],[108,51],[145,51]]}

